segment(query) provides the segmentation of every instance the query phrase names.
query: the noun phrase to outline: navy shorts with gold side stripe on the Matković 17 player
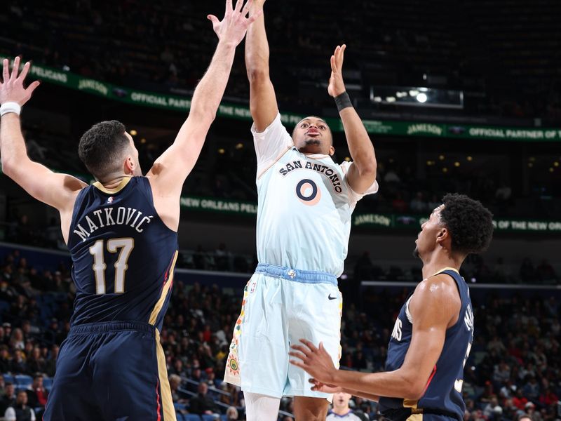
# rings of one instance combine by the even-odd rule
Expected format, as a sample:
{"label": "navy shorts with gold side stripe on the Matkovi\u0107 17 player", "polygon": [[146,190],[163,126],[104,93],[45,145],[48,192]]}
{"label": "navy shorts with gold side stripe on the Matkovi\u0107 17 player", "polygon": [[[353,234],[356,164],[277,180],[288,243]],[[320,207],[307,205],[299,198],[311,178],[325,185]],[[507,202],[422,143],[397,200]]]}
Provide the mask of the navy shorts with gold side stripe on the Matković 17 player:
{"label": "navy shorts with gold side stripe on the Matkovi\u0107 17 player", "polygon": [[43,421],[175,421],[158,330],[148,323],[73,326],[62,342]]}

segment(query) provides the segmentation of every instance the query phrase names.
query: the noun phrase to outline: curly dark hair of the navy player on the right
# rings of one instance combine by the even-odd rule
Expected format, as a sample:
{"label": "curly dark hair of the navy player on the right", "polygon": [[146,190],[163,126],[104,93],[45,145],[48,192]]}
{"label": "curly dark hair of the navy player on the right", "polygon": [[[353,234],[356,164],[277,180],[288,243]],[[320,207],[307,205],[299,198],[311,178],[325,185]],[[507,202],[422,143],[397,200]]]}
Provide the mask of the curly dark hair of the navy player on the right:
{"label": "curly dark hair of the navy player on the right", "polygon": [[469,254],[487,250],[493,236],[493,214],[480,201],[464,194],[446,194],[440,211],[442,223],[450,230],[452,252]]}

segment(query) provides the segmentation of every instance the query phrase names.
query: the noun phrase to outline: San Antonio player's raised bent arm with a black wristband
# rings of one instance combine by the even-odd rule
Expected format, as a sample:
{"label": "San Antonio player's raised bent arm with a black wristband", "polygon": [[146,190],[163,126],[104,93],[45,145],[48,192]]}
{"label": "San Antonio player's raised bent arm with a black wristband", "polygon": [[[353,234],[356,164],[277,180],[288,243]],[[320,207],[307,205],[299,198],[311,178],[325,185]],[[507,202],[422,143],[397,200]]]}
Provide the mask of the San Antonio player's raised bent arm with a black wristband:
{"label": "San Antonio player's raised bent arm with a black wristband", "polygon": [[[331,56],[331,77],[327,92],[336,98],[339,116],[343,121],[346,141],[353,163],[349,167],[347,180],[354,192],[363,194],[376,180],[376,154],[372,141],[368,136],[363,121],[360,120],[354,107],[348,101],[343,81],[343,59],[346,46],[337,46]],[[345,101],[345,99],[347,101]],[[342,101],[343,100],[343,101]],[[344,102],[343,105],[340,105]]]}

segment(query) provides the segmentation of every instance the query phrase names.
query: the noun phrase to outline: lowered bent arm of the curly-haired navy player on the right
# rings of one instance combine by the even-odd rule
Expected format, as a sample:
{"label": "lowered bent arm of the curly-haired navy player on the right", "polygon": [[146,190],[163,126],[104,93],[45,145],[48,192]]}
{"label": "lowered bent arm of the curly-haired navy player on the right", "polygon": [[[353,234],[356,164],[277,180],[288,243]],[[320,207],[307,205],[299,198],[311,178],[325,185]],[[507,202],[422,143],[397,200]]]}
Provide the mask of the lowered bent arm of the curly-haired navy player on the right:
{"label": "lowered bent arm of the curly-haired navy player on the right", "polygon": [[[446,330],[457,319],[461,302],[455,284],[438,275],[422,282],[410,301],[413,332],[403,366],[385,373],[358,373],[337,370],[331,357],[320,343],[308,340],[304,345],[292,345],[290,361],[313,376],[315,382],[360,391],[372,396],[388,396],[417,400],[423,396],[433,373]],[[357,392],[355,392],[357,393]],[[358,393],[359,395],[361,393]]]}

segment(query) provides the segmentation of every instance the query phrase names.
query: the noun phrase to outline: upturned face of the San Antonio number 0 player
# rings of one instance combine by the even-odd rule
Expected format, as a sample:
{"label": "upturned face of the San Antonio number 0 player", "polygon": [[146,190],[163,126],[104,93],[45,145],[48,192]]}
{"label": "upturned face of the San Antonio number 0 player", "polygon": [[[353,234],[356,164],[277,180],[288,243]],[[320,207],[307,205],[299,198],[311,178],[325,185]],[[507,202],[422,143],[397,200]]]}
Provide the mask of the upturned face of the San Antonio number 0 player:
{"label": "upturned face of the San Antonio number 0 player", "polygon": [[332,155],[333,138],[327,123],[319,117],[309,116],[300,121],[292,133],[296,149],[304,154]]}

